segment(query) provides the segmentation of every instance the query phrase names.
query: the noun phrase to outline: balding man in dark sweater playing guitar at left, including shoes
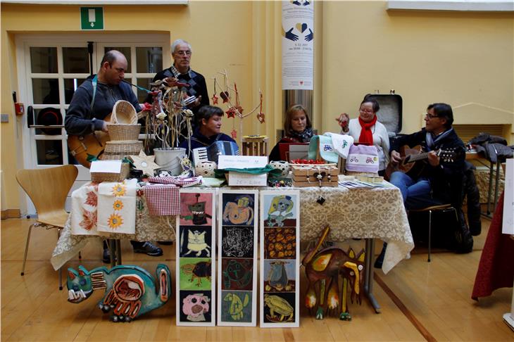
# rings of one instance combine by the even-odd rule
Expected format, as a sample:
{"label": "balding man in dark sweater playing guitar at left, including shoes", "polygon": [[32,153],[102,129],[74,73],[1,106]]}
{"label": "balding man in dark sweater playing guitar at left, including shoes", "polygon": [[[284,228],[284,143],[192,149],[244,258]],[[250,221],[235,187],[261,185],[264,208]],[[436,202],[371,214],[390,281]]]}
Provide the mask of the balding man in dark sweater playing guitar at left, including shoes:
{"label": "balding man in dark sweater playing guitar at left, including shoes", "polygon": [[[85,136],[95,131],[107,132],[104,119],[112,112],[118,100],[132,103],[137,112],[141,110],[130,85],[122,82],[127,70],[127,58],[120,51],[107,51],[101,60],[98,74],[88,77],[77,88],[66,113],[64,127],[69,135]],[[163,250],[148,241],[130,241],[135,253],[151,256],[163,255]],[[109,262],[110,253],[104,243],[104,262]]]}

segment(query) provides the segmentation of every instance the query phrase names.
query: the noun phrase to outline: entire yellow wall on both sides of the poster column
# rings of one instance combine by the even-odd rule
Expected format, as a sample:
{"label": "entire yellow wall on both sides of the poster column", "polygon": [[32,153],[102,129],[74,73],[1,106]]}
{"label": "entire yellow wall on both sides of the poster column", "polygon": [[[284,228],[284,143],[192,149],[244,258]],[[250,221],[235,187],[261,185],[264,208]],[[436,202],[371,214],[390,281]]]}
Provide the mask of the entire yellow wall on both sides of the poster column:
{"label": "entire yellow wall on both sides of the poster column", "polygon": [[[15,170],[23,160],[15,146],[21,146],[21,128],[11,100],[18,90],[15,34],[80,32],[78,8],[1,4],[0,108],[11,115],[0,126],[1,191],[10,194],[2,209],[20,208]],[[262,89],[266,122],[252,115],[244,133],[268,134],[273,145],[282,126],[279,1],[104,6],[104,15],[104,32],[165,32],[189,40],[192,67],[206,77],[211,95],[210,78],[224,68],[246,110]],[[333,118],[341,112],[356,117],[363,95],[375,89],[395,89],[403,97],[402,132],[419,129],[427,104],[436,101],[463,108],[456,110],[456,123],[514,122],[513,13],[386,11],[385,1],[316,1],[315,48],[313,121],[320,132],[337,131]],[[513,127],[506,129],[510,144]],[[231,128],[232,119],[225,118],[225,132]]]}

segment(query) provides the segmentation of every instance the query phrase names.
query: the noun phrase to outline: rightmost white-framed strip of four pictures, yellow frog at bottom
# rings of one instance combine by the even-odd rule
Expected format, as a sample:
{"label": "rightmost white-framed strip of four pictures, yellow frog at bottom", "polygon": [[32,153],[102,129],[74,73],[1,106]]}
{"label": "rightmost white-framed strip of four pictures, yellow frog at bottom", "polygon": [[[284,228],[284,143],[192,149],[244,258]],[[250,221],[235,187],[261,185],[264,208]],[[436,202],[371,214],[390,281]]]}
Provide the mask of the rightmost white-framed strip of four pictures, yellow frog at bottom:
{"label": "rightmost white-framed strip of four pictures, yellow frog at bottom", "polygon": [[300,191],[261,191],[261,327],[300,325]]}

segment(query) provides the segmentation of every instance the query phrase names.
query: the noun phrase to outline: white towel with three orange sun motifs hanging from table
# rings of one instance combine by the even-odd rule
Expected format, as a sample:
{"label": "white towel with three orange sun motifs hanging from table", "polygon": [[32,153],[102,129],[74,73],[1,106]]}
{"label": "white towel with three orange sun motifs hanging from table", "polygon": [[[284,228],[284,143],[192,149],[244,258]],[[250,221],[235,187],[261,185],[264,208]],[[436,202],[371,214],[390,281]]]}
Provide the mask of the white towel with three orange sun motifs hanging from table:
{"label": "white towel with three orange sun motifs hanging from table", "polygon": [[98,231],[136,233],[137,179],[101,182],[98,186]]}

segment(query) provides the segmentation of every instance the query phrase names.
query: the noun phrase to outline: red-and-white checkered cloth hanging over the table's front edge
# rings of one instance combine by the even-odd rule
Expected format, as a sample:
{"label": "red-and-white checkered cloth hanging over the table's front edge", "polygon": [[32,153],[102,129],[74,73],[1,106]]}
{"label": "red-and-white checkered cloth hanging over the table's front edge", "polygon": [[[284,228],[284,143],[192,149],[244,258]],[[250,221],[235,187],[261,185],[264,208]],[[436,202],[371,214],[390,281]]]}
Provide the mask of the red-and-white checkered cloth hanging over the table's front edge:
{"label": "red-and-white checkered cloth hanging over the table's front edge", "polygon": [[148,184],[143,192],[150,215],[180,215],[179,187],[175,184]]}

